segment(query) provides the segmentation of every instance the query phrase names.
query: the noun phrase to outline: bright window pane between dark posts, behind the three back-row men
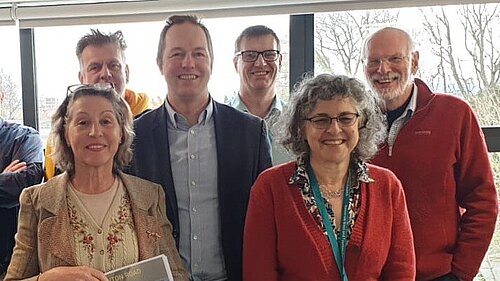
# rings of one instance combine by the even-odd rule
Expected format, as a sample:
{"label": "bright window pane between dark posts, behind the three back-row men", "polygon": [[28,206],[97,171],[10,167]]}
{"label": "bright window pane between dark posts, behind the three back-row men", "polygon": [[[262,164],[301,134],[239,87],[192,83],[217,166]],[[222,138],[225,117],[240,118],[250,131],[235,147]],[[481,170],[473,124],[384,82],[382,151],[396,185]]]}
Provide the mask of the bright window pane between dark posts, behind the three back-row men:
{"label": "bright window pane between dark posts, behind the three back-row men", "polygon": [[[280,37],[284,52],[278,93],[288,99],[288,26],[289,16],[259,16],[203,19],[210,30],[214,47],[213,73],[209,90],[215,100],[227,101],[239,89],[239,77],[233,65],[234,41],[250,25],[264,24]],[[103,32],[121,30],[128,48],[130,68],[128,88],[147,93],[154,105],[160,105],[167,92],[166,82],[156,65],[158,39],[164,22],[107,24],[93,26],[41,27],[35,29],[36,67],[40,131],[46,139],[50,116],[66,94],[66,87],[79,83],[76,43],[90,28]]]}

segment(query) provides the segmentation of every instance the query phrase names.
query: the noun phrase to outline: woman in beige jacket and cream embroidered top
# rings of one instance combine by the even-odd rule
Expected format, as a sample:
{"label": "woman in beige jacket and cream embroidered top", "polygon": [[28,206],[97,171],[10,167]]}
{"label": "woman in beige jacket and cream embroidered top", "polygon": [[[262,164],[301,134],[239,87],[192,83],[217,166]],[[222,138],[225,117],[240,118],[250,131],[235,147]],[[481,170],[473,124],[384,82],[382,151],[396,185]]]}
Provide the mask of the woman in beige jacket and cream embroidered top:
{"label": "woman in beige jacket and cream embroidered top", "polygon": [[160,185],[121,172],[132,115],[112,84],[75,85],[52,118],[63,174],[25,189],[5,280],[108,280],[104,272],[160,254],[188,280]]}

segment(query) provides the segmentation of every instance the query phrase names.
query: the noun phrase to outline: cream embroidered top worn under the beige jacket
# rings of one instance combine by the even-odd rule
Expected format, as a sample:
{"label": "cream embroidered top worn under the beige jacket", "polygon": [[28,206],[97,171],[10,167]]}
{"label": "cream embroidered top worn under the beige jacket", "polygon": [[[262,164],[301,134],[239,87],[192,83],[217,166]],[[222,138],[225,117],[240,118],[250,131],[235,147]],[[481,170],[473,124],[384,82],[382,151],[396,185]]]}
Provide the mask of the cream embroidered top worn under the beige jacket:
{"label": "cream embroidered top worn under the beige jacket", "polygon": [[68,187],[68,215],[79,265],[107,272],[139,260],[129,197],[121,181],[118,182],[102,224],[91,215],[82,195]]}

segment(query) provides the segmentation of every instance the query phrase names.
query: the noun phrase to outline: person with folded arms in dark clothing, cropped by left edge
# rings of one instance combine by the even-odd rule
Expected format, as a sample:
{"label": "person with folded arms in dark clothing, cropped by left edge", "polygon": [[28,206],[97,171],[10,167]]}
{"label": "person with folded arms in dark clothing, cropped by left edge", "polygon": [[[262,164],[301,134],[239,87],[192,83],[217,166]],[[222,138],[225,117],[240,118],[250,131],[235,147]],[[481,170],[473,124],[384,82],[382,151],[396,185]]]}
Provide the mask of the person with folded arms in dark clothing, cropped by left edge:
{"label": "person with folded arms in dark clothing, cropped by left edge", "polygon": [[[0,107],[3,97],[0,89]],[[0,118],[0,280],[15,244],[19,195],[25,187],[42,181],[42,161],[38,132]]]}

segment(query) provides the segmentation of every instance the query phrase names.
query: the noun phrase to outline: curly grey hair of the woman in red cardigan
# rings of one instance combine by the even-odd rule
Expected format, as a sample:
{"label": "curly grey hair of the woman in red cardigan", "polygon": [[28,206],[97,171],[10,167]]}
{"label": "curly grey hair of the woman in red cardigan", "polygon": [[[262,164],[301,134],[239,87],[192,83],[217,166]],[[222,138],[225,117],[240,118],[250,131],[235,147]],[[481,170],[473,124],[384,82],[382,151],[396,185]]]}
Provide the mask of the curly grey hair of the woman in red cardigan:
{"label": "curly grey hair of the woman in red cardigan", "polygon": [[386,136],[385,116],[379,98],[365,89],[363,83],[344,75],[320,74],[305,78],[295,90],[287,111],[281,115],[280,126],[285,135],[283,145],[298,156],[309,156],[305,141],[304,119],[314,110],[318,100],[348,98],[360,114],[359,141],[354,148],[361,160],[375,155]]}

